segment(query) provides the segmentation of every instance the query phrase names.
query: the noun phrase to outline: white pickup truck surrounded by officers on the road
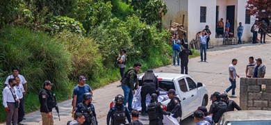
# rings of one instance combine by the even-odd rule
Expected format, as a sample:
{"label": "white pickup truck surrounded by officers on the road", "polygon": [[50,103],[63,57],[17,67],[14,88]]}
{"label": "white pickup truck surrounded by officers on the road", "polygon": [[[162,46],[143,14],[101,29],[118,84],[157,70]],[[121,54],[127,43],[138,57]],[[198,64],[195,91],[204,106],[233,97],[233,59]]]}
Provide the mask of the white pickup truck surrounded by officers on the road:
{"label": "white pickup truck surrounded by officers on the road", "polygon": [[[181,100],[182,115],[178,120],[186,119],[186,117],[191,116],[199,106],[207,106],[208,92],[203,83],[195,83],[195,81],[186,74],[155,73],[155,75],[159,81],[159,97],[163,99],[161,103],[163,104],[164,109],[167,106],[167,103],[170,102],[166,93],[168,90],[174,89],[176,91],[176,96]],[[140,86],[142,85],[142,76],[138,77]],[[148,116],[140,115],[140,119],[141,122],[145,122],[143,124],[149,124]]]}

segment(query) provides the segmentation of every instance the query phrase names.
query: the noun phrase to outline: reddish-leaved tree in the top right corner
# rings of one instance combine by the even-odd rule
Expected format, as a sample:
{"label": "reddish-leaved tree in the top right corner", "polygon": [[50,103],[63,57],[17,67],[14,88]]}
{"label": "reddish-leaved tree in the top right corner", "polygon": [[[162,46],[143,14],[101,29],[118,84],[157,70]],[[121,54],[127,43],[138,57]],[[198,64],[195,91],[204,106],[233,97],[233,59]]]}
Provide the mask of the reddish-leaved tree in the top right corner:
{"label": "reddish-leaved tree in the top right corner", "polygon": [[271,0],[249,0],[247,1],[248,15],[255,15],[258,18],[266,18],[271,13]]}

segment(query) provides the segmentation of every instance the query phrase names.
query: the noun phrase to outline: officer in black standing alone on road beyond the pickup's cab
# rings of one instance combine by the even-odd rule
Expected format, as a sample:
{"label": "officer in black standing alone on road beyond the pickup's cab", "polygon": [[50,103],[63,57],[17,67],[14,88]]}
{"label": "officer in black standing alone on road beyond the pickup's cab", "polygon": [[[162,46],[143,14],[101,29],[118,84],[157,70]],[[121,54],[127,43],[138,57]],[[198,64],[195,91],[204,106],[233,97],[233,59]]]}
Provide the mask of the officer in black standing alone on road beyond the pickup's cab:
{"label": "officer in black standing alone on road beyond the pickup's cab", "polygon": [[179,53],[181,58],[181,74],[183,74],[184,69],[186,69],[186,74],[188,74],[188,56],[192,55],[192,51],[188,49],[188,43],[184,44],[184,49]]}

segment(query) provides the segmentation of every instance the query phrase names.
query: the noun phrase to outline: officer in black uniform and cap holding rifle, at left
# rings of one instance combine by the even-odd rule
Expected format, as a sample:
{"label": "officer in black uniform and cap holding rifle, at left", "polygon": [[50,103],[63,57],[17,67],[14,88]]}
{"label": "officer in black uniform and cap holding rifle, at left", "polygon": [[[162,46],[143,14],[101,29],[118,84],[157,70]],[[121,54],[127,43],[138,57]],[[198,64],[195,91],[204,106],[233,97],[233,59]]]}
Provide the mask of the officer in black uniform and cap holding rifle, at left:
{"label": "officer in black uniform and cap holding rifle, at left", "polygon": [[50,81],[44,81],[43,88],[40,90],[40,115],[42,115],[42,124],[54,125],[53,114],[51,110],[56,107],[56,102],[53,99],[53,94],[50,90],[53,83]]}

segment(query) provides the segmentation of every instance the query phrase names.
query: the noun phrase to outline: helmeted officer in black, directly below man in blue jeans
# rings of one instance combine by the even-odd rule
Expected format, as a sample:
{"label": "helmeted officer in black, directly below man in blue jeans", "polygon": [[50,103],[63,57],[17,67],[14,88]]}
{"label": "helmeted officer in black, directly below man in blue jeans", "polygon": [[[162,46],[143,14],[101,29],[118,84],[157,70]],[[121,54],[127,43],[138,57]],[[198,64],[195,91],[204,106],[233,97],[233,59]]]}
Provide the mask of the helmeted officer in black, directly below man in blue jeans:
{"label": "helmeted officer in black, directly below man in blue jeans", "polygon": [[[124,97],[122,94],[117,94],[115,97],[115,106],[112,106],[107,114],[106,123],[107,125],[120,125],[126,124],[125,117],[128,122],[131,123],[131,117],[126,106],[123,104]],[[110,122],[111,118],[111,122]]]}

